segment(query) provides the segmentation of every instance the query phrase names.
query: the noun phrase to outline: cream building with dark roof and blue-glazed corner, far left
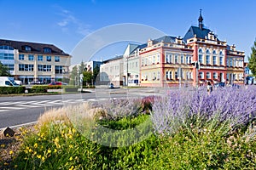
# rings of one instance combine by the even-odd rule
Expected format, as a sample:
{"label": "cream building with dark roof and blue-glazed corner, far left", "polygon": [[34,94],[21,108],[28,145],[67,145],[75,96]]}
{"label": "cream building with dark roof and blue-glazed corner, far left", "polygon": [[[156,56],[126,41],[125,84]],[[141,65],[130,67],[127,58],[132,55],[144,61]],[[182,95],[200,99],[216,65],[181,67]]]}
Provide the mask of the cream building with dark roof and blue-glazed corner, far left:
{"label": "cream building with dark roof and blue-glazed corner, far left", "polygon": [[52,44],[0,39],[0,61],[27,84],[68,78],[71,56]]}

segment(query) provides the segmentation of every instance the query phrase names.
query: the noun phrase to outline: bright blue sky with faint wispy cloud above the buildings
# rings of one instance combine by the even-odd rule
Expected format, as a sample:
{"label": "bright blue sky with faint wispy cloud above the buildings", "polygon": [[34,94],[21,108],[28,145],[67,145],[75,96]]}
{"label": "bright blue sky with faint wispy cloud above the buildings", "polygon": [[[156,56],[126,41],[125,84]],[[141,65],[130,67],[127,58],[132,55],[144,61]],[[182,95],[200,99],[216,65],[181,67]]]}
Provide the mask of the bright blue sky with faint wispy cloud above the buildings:
{"label": "bright blue sky with faint wispy cloud above the buildings", "polygon": [[[84,37],[115,24],[143,24],[183,37],[197,26],[200,8],[204,25],[245,51],[247,59],[256,37],[254,0],[0,0],[0,38],[52,43],[71,54]],[[124,47],[103,48],[96,58],[122,54]]]}

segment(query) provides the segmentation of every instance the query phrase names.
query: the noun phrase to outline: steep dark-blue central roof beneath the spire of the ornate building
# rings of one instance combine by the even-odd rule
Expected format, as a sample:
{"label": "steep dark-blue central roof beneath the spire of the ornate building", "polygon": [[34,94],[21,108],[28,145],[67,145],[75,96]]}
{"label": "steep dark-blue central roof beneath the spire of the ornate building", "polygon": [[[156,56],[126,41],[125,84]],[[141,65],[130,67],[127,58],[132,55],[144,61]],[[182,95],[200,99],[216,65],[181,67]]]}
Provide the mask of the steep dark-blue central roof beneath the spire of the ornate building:
{"label": "steep dark-blue central roof beneath the spire of the ornate building", "polygon": [[[211,30],[204,27],[201,30],[198,26],[190,26],[189,31],[187,31],[187,33],[183,37],[183,40],[187,42],[189,38],[195,37],[195,35],[196,37],[205,39],[209,32],[211,32]],[[217,38],[215,35],[214,37]]]}

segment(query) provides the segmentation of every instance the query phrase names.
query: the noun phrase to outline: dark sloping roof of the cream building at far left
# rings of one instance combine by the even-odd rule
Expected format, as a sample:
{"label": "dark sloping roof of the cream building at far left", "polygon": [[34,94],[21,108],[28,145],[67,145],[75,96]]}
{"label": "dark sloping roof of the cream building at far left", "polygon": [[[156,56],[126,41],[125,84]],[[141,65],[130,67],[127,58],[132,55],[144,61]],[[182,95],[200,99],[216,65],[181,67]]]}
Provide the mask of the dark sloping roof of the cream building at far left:
{"label": "dark sloping roof of the cream building at far left", "polygon": [[[38,43],[38,42],[19,42],[13,40],[0,39],[0,46],[10,46],[12,48],[18,49],[20,53],[33,53],[33,54],[57,54],[57,55],[69,55],[64,53],[60,48],[55,45]],[[31,48],[30,51],[25,50],[25,47]],[[45,53],[44,48],[50,48],[51,52]]]}

